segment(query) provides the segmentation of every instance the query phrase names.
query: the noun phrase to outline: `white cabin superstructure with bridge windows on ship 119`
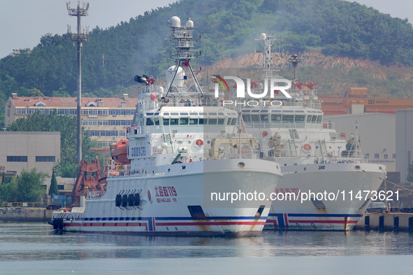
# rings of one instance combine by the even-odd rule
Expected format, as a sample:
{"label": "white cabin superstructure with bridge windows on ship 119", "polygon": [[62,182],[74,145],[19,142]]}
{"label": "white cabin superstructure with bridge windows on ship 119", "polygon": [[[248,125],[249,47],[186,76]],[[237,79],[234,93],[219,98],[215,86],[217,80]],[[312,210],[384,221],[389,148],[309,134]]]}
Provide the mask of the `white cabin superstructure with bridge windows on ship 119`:
{"label": "white cabin superstructure with bridge windows on ship 119", "polygon": [[[237,112],[224,107],[164,106],[147,110],[126,131],[131,170],[217,158],[214,152],[222,149],[215,148],[218,143],[238,141],[237,117]],[[242,147],[249,146],[247,138],[241,143]]]}

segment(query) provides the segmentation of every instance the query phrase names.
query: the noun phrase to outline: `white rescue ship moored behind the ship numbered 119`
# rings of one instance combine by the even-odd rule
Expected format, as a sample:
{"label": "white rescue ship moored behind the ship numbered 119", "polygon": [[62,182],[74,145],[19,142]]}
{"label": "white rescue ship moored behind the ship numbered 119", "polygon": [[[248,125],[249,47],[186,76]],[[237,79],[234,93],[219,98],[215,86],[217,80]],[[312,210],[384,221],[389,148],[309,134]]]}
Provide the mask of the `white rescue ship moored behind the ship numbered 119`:
{"label": "white rescue ship moored behind the ship numbered 119", "polygon": [[[260,66],[263,80],[247,80],[246,85],[248,93],[261,95],[271,87],[271,79],[284,80],[273,65],[271,45],[275,37],[261,34],[257,40],[264,47]],[[294,59],[297,61],[296,56],[291,61]],[[248,102],[242,110],[245,131],[259,140],[261,159],[282,166],[284,177],[275,188],[277,199],[273,201],[266,228],[352,230],[368,202],[372,198],[377,200],[375,192],[386,178],[386,166],[368,163],[363,158],[356,128],[346,140],[345,133],[337,133],[333,123],[323,122],[321,102],[314,89],[317,84],[294,85],[296,89],[287,90],[291,98],[279,90],[274,91],[273,98],[229,98]],[[234,105],[225,103],[225,107]]]}

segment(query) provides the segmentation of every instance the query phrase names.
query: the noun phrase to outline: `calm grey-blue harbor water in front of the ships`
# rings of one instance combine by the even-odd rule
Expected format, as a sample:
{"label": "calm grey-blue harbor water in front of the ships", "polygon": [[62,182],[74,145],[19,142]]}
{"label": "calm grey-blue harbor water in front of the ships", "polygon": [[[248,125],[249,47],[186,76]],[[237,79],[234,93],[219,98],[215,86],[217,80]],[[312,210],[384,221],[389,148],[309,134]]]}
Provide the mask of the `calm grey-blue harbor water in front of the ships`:
{"label": "calm grey-blue harbor water in front of the ships", "polygon": [[0,223],[0,274],[412,274],[409,232],[275,232],[254,238],[55,233]]}

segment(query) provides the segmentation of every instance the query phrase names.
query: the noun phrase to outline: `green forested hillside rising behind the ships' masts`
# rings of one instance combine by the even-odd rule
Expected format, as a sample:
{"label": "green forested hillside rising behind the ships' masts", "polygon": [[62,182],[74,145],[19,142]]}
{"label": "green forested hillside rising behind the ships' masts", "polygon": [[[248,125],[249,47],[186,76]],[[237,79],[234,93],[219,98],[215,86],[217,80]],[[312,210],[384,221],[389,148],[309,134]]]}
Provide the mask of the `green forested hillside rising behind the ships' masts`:
{"label": "green forested hillside rising behind the ships' masts", "polygon": [[[62,7],[64,8],[64,7]],[[182,0],[145,12],[116,27],[90,33],[82,56],[85,96],[117,96],[134,84],[133,75],[164,76],[173,59],[166,20],[194,18],[202,57],[195,66],[247,54],[262,32],[284,40],[286,52],[317,50],[330,57],[413,66],[413,29],[358,3],[339,0]],[[93,16],[92,10],[90,15]],[[69,19],[68,19],[69,20]],[[19,96],[74,96],[76,47],[66,35],[45,34],[31,52],[0,60],[0,103]],[[103,65],[104,57],[104,65]],[[0,110],[3,117],[3,107]],[[2,121],[0,121],[2,123]]]}

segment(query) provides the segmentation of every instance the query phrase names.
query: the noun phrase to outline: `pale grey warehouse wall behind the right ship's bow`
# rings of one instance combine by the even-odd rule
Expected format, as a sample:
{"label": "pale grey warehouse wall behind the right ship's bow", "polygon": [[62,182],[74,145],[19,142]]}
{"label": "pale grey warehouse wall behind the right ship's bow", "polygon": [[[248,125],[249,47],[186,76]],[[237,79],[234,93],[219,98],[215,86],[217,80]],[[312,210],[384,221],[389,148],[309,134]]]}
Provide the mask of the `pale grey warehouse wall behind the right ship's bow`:
{"label": "pale grey warehouse wall behind the right ship's bow", "polygon": [[386,165],[388,172],[398,171],[396,156],[400,158],[400,153],[396,151],[396,115],[379,112],[331,115],[324,117],[324,122],[326,121],[335,123],[336,131],[344,132],[346,138],[356,133],[357,121],[357,135],[361,138],[361,152],[365,158],[369,158],[372,163]]}

